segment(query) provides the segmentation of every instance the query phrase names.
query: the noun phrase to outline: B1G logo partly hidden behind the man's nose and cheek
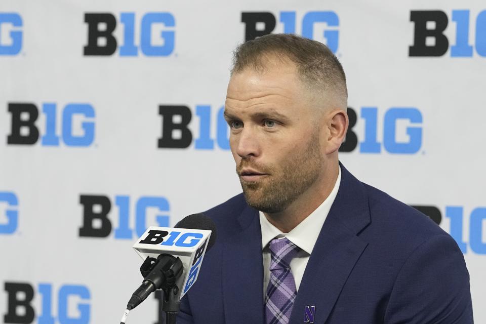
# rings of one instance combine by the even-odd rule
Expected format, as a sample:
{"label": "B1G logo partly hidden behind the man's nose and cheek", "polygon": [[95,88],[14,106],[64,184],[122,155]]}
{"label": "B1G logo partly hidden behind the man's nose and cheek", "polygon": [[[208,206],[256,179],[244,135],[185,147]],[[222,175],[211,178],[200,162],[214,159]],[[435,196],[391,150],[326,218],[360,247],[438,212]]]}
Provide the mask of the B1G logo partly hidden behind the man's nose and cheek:
{"label": "B1G logo partly hidden behind the man's nose and cheek", "polygon": [[[187,148],[192,144],[193,132],[198,132],[194,148],[211,150],[217,145],[229,150],[229,128],[224,119],[224,107],[212,109],[210,105],[196,105],[198,125],[191,131],[189,124],[192,111],[187,106],[160,105],[158,113],[162,117],[162,135],[158,139],[159,148]],[[198,126],[198,129],[197,129]]]}

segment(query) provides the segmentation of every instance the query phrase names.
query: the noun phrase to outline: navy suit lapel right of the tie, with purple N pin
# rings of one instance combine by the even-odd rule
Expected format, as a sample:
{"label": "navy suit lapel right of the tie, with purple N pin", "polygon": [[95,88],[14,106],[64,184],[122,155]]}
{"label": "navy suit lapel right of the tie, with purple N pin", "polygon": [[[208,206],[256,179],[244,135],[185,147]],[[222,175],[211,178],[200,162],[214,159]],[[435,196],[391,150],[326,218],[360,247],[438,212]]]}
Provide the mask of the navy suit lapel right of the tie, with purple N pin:
{"label": "navy suit lapel right of the tie, with purple N pin", "polygon": [[370,223],[365,188],[342,165],[341,172],[338,194],[302,277],[291,324],[304,322],[306,306],[315,307],[315,323],[326,321],[367,246],[367,242],[356,236]]}

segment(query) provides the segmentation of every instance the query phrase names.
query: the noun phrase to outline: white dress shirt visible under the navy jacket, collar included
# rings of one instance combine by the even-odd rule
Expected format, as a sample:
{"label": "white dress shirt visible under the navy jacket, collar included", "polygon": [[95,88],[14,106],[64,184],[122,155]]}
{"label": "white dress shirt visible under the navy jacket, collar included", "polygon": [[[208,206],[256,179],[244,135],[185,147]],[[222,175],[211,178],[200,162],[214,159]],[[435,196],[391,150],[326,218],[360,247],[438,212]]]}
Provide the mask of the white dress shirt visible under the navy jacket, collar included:
{"label": "white dress shirt visible under the navy jacket, collar included", "polygon": [[328,216],[329,210],[334,203],[336,194],[338,193],[339,184],[341,183],[341,167],[338,171],[338,179],[334,184],[334,188],[329,196],[322,201],[319,207],[307,216],[299,225],[297,225],[289,233],[282,233],[279,229],[273,226],[260,212],[260,227],[262,229],[262,247],[263,247],[263,295],[267,291],[268,282],[270,281],[270,248],[269,242],[277,237],[287,237],[293,244],[298,246],[301,250],[290,262],[290,268],[295,279],[295,287],[299,290],[302,276],[304,275],[305,267],[309,261],[310,254],[314,249],[315,242],[319,236],[320,229]]}

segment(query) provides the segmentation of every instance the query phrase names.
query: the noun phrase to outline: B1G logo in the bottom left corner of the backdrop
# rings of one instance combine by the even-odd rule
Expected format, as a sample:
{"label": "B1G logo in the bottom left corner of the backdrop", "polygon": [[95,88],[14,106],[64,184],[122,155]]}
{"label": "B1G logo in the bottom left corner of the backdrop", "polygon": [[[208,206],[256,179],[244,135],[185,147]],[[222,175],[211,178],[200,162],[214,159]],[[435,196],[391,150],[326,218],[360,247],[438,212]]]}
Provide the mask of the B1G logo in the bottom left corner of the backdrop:
{"label": "B1G logo in the bottom left corner of the backdrop", "polygon": [[[7,312],[5,323],[33,323],[37,313],[38,324],[85,324],[90,322],[90,299],[88,287],[62,285],[57,290],[52,284],[32,286],[27,282],[5,282]],[[35,298],[35,290],[40,301]],[[57,299],[57,314],[53,304]],[[34,305],[33,305],[34,304]],[[36,307],[40,305],[40,307]]]}

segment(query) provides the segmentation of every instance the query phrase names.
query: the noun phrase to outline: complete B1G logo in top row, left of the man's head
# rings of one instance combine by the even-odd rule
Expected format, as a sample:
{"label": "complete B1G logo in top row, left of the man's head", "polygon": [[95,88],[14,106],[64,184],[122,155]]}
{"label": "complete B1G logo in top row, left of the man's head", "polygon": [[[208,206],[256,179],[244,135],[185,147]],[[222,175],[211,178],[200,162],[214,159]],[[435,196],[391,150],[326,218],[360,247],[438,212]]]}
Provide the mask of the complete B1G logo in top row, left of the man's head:
{"label": "complete B1G logo in top row, left of the man's head", "polygon": [[[88,45],[84,55],[113,55],[121,39],[119,56],[137,56],[140,48],[145,56],[168,56],[174,51],[175,18],[168,12],[150,12],[140,22],[135,13],[120,14],[123,34],[114,35],[116,17],[110,13],[86,13],[88,24]],[[138,37],[139,36],[139,37]],[[139,43],[139,46],[136,43]]]}

